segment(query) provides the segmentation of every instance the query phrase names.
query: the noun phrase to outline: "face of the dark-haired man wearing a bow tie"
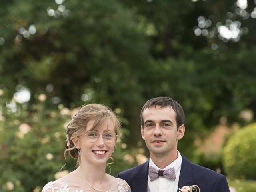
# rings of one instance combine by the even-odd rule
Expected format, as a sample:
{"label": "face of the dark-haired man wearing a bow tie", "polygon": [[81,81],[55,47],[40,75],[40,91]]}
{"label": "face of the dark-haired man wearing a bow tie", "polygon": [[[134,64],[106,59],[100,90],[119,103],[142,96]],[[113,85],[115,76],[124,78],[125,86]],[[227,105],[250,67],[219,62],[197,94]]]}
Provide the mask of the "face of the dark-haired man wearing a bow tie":
{"label": "face of the dark-haired man wearing a bow tie", "polygon": [[152,106],[143,112],[142,138],[150,151],[150,156],[170,156],[177,154],[177,142],[184,136],[185,127],[177,130],[176,112],[167,106]]}

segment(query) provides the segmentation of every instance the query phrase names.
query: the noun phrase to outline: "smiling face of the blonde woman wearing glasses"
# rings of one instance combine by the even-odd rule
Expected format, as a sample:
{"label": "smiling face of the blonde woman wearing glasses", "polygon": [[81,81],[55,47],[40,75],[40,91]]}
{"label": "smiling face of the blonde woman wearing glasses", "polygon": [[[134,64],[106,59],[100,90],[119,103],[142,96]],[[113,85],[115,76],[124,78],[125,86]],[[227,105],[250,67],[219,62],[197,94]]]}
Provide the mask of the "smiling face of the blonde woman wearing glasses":
{"label": "smiling face of the blonde woman wearing glasses", "polygon": [[85,134],[79,136],[81,164],[105,164],[112,155],[116,144],[114,124],[110,119],[105,119],[96,130],[92,130],[94,120],[87,124]]}

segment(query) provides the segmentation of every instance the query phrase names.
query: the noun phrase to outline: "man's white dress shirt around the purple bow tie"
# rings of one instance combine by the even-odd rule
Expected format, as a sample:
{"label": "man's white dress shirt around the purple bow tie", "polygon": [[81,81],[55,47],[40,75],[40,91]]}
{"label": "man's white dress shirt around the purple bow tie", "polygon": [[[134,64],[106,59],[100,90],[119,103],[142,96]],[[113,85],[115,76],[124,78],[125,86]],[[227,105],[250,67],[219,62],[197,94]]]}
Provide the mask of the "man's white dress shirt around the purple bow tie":
{"label": "man's white dress shirt around the purple bow tie", "polygon": [[152,166],[157,170],[159,169],[167,170],[174,167],[175,177],[176,177],[175,181],[171,181],[163,176],[158,177],[154,181],[150,181],[148,176],[148,186],[149,186],[150,192],[176,192],[178,190],[181,163],[182,163],[182,157],[180,155],[180,152],[178,152],[178,158],[174,160],[174,162],[166,166],[164,169],[160,169],[158,166],[156,166],[156,164],[154,164],[152,159],[149,158],[149,166]]}

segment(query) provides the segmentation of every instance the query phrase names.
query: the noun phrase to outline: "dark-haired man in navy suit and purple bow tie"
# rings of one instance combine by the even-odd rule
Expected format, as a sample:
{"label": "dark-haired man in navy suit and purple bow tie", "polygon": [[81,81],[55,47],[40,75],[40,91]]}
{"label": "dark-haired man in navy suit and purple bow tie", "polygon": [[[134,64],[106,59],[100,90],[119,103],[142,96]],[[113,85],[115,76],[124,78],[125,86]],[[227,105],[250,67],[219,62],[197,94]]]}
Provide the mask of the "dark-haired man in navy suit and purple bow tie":
{"label": "dark-haired man in navy suit and purple bow tie", "polygon": [[192,185],[201,192],[229,192],[225,176],[191,163],[177,150],[178,140],[185,133],[185,115],[178,102],[169,97],[150,99],[140,118],[150,158],[117,175],[126,180],[132,192],[178,192]]}

